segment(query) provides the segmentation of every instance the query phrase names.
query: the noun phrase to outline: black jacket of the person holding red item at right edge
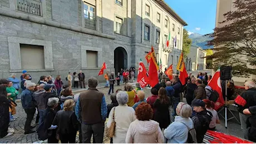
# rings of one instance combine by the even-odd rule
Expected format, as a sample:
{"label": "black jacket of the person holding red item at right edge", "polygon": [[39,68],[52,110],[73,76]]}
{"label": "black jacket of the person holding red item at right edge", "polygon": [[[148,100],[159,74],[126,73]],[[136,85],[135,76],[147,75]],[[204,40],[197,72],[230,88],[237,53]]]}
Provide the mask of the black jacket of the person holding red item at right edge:
{"label": "black jacket of the person holding red item at right edge", "polygon": [[244,109],[248,109],[250,106],[256,105],[256,89],[248,89],[244,91],[241,96],[246,101],[246,104],[244,106],[238,105],[237,110],[243,114]]}

